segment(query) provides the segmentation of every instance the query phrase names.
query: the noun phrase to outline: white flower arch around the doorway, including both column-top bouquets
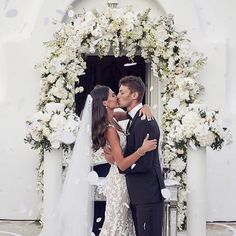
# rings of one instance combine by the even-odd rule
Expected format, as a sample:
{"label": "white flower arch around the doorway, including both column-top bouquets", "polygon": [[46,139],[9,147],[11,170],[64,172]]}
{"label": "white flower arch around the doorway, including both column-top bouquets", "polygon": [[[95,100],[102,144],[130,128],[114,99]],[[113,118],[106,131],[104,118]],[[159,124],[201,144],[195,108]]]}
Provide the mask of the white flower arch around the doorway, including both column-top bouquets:
{"label": "white flower arch around the doorway, including both column-top bouquets", "polygon": [[218,111],[200,103],[203,86],[198,76],[206,58],[191,50],[186,32],[175,30],[173,16],[157,20],[149,12],[136,14],[130,7],[82,14],[68,11],[70,22],[59,24],[54,38],[46,43],[47,57],[37,65],[41,72],[40,100],[38,112],[27,121],[25,141],[39,151],[40,163],[44,151],[60,147],[68,151],[79,126],[74,97],[83,91],[79,76],[85,73],[86,55],[125,55],[131,61],[136,54],[141,55],[162,85],[161,152],[170,168],[169,177],[181,183],[178,227],[182,229],[186,220],[188,146],[220,149],[229,136],[219,124]]}

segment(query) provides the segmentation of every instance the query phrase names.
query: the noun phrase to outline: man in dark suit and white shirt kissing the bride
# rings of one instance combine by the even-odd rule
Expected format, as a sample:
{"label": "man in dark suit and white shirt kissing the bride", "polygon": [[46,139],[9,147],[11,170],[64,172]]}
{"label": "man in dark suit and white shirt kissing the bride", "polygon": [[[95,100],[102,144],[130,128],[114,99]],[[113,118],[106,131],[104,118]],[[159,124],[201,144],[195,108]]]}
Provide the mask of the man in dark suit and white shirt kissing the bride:
{"label": "man in dark suit and white shirt kissing the bride", "polygon": [[[127,108],[130,121],[124,156],[134,153],[149,134],[150,139],[160,139],[160,130],[155,120],[148,121],[138,115],[142,107],[145,85],[140,77],[126,76],[120,80],[117,95],[120,107]],[[130,197],[130,206],[137,236],[161,236],[165,188],[157,149],[145,153],[136,165],[125,173]]]}

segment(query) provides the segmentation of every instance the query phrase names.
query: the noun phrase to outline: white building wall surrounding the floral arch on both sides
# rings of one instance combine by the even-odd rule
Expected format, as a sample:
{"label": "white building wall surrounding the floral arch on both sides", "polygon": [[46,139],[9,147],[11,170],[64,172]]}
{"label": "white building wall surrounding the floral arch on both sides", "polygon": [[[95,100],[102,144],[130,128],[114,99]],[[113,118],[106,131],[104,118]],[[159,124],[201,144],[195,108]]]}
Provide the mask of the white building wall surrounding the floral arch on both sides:
{"label": "white building wall surrounding the floral arch on both sides", "polygon": [[[77,0],[79,9],[101,9],[105,0]],[[70,0],[11,0],[0,2],[0,219],[35,219],[37,210],[37,154],[23,143],[24,122],[35,111],[40,75],[34,64],[45,55],[42,42],[51,38],[52,18],[62,19]],[[173,13],[179,30],[188,30],[193,45],[209,58],[201,80],[204,100],[220,108],[236,136],[236,32],[234,0],[120,0],[152,15]],[[162,7],[160,7],[160,5]],[[17,15],[6,17],[9,10]],[[155,102],[154,102],[155,103]],[[236,144],[223,151],[208,151],[208,220],[236,220]],[[2,200],[3,199],[3,200]],[[224,199],[224,200],[222,200]]]}

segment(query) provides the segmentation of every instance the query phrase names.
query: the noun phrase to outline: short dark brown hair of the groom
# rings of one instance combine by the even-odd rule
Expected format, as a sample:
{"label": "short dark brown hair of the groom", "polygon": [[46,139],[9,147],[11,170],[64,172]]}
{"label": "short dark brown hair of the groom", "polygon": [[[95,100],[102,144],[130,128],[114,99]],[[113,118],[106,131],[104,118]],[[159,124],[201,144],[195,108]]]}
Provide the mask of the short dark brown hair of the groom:
{"label": "short dark brown hair of the groom", "polygon": [[143,96],[145,93],[145,84],[143,83],[141,77],[137,77],[134,75],[125,76],[119,81],[119,86],[121,85],[128,87],[131,93],[137,92],[137,101],[143,101]]}

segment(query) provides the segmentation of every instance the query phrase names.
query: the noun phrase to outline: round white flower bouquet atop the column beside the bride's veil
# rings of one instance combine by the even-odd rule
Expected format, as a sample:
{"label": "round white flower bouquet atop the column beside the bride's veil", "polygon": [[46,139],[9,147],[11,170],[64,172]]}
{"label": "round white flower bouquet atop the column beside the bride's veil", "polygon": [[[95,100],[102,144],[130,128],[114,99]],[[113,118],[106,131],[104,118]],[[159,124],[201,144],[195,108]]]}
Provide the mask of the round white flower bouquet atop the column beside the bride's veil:
{"label": "round white flower bouquet atop the column beside the bride's veil", "polygon": [[61,147],[68,150],[67,145],[75,141],[79,129],[79,118],[61,103],[48,103],[26,123],[25,142],[39,151]]}

